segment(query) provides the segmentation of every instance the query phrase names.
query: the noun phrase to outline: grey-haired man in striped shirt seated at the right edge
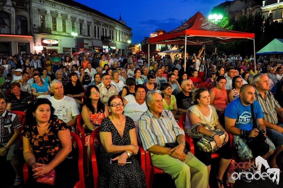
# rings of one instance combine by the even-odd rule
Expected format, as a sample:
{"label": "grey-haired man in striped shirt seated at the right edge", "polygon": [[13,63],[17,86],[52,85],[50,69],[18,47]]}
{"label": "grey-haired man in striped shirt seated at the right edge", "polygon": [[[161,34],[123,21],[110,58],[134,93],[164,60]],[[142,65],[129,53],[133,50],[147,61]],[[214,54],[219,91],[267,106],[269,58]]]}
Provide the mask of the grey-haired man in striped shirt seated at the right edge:
{"label": "grey-haired man in striped shirt seated at the right edge", "polygon": [[254,76],[253,83],[256,91],[256,100],[262,108],[266,135],[272,140],[276,148],[274,154],[270,156],[269,163],[271,168],[278,168],[276,157],[283,151],[283,124],[278,124],[277,114],[283,118],[283,108],[269,91],[268,80],[267,75],[260,73]]}

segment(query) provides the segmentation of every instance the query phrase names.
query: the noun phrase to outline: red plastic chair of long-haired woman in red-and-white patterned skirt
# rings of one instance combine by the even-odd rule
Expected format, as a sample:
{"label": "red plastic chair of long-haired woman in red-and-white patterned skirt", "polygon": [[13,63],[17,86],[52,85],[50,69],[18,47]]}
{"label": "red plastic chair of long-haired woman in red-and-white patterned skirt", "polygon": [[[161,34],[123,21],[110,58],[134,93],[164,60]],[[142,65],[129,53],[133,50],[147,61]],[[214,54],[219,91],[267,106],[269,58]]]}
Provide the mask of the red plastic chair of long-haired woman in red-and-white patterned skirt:
{"label": "red plastic chair of long-haired woman in red-and-white patterned skirt", "polygon": [[85,125],[82,114],[80,113],[77,118],[76,133],[80,136],[83,144],[83,161],[85,175],[89,176],[89,159],[88,159],[88,146],[85,146]]}

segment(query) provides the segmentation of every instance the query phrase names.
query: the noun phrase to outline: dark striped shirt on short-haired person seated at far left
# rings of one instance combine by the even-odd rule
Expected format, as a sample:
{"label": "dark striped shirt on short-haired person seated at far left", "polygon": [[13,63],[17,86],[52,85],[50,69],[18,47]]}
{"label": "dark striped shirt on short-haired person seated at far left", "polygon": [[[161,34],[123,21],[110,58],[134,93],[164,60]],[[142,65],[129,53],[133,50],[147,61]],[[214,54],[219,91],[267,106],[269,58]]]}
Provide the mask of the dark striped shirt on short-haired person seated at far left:
{"label": "dark striped shirt on short-haired person seated at far left", "polygon": [[32,96],[25,91],[21,91],[20,99],[13,93],[7,96],[7,103],[11,103],[11,110],[25,111],[27,110],[28,102],[33,102]]}

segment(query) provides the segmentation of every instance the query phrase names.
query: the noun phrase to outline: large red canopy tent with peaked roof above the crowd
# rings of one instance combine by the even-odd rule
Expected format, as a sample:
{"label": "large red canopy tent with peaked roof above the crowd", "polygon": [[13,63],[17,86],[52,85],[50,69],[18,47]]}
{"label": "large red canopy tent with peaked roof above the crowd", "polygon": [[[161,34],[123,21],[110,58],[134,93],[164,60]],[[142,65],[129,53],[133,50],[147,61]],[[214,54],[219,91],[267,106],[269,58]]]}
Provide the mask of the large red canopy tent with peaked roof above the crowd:
{"label": "large red canopy tent with peaked roof above the crowd", "polygon": [[211,22],[200,12],[197,12],[187,22],[176,29],[156,37],[150,37],[148,39],[148,47],[149,44],[184,44],[186,51],[187,44],[208,45],[213,44],[215,41],[226,44],[227,42],[232,42],[238,39],[251,39],[254,41],[254,33],[244,33],[224,29]]}

